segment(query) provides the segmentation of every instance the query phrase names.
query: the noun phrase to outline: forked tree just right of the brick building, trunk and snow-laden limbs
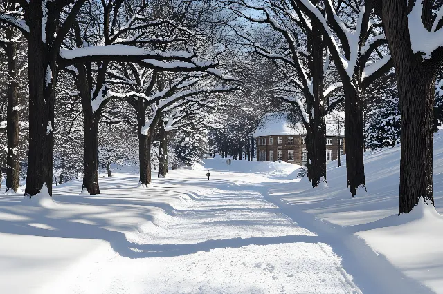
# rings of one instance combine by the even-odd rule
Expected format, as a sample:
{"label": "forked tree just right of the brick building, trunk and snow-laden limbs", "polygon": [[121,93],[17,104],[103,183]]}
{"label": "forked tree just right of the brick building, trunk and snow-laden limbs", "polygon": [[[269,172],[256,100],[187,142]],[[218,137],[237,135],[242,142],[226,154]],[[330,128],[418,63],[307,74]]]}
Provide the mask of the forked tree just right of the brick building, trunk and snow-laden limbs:
{"label": "forked tree just right of the brick building, trunk and snow-laden limbs", "polygon": [[[364,2],[364,3],[363,3]],[[345,95],[347,186],[352,196],[365,187],[363,163],[363,95],[365,88],[392,67],[371,1],[291,0],[316,25],[327,44]],[[301,15],[300,21],[307,22]],[[342,55],[342,52],[344,55]]]}

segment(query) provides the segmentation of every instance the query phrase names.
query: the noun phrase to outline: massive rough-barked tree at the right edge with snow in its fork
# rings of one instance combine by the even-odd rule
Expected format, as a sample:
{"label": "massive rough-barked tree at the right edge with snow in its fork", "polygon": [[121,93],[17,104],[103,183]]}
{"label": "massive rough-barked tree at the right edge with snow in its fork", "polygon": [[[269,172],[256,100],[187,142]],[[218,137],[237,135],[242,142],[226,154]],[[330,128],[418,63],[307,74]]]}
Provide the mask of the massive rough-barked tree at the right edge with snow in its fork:
{"label": "massive rough-barked tree at the right edge with snow in its fork", "polygon": [[[399,214],[433,203],[435,79],[443,63],[440,1],[374,0],[397,75],[401,111]],[[434,7],[435,6],[435,7]]]}

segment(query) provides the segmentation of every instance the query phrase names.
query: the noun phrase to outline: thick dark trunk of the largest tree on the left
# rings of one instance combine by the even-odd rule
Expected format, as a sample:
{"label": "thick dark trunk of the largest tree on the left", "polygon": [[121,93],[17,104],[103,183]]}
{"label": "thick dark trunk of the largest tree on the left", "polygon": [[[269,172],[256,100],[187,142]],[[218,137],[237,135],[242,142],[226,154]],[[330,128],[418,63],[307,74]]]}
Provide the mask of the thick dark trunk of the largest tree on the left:
{"label": "thick dark trunk of the largest tree on the left", "polygon": [[[51,56],[46,44],[42,42],[42,1],[30,1],[25,18],[30,28],[29,153],[25,193],[29,196],[36,195],[46,184],[49,195],[52,195],[56,56]],[[46,73],[50,71],[52,79],[46,84]]]}

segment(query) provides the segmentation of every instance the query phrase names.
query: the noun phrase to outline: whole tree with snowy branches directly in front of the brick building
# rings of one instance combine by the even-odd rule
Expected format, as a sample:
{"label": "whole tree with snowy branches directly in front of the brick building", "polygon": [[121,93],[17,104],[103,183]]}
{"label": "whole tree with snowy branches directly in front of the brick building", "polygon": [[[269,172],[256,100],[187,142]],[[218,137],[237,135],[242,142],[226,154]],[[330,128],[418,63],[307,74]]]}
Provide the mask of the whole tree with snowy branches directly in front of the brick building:
{"label": "whole tree with snowy branches directly in front of the brick building", "polygon": [[[326,182],[326,124],[325,116],[341,102],[329,99],[341,83],[324,87],[329,68],[329,52],[316,23],[312,26],[305,20],[300,10],[291,10],[290,4],[277,1],[262,1],[260,6],[245,0],[227,1],[235,14],[251,23],[266,23],[271,28],[271,38],[253,38],[245,30],[237,35],[246,39],[255,52],[271,61],[280,75],[286,77],[282,86],[276,86],[276,97],[284,99],[298,108],[300,118],[307,130],[307,168],[308,177],[315,188]],[[235,5],[235,6],[233,6]],[[240,6],[247,11],[241,11]],[[252,10],[253,13],[248,13]],[[257,14],[260,17],[257,17]],[[324,60],[324,62],[323,62]]]}

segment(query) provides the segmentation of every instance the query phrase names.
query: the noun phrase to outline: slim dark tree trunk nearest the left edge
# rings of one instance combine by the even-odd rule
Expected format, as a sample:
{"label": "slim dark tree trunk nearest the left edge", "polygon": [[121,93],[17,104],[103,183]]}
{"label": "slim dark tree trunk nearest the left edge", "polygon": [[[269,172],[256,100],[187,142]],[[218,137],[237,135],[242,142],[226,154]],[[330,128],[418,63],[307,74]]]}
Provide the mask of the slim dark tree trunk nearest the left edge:
{"label": "slim dark tree trunk nearest the left edge", "polygon": [[[12,29],[6,29],[6,39],[12,40]],[[6,159],[6,191],[19,188],[19,160],[17,147],[19,145],[19,99],[17,97],[17,48],[16,43],[10,41],[6,44],[6,58],[8,60],[8,157]]]}

